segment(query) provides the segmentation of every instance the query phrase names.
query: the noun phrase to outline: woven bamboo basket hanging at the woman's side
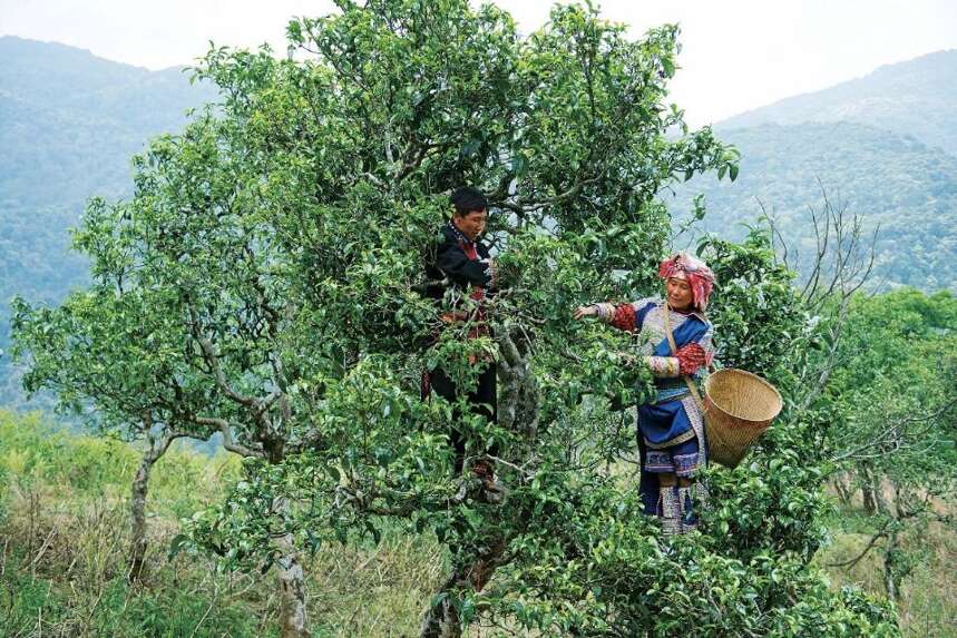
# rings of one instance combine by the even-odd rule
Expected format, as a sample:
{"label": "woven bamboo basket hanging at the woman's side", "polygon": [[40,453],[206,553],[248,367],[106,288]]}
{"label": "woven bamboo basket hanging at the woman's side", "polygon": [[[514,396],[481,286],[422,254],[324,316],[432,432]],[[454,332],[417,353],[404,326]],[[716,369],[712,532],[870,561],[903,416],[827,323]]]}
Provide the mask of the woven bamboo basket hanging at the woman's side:
{"label": "woven bamboo basket hanging at the woman's side", "polygon": [[709,458],[735,468],[782,405],[778,389],[756,374],[733,367],[711,374],[704,383]]}

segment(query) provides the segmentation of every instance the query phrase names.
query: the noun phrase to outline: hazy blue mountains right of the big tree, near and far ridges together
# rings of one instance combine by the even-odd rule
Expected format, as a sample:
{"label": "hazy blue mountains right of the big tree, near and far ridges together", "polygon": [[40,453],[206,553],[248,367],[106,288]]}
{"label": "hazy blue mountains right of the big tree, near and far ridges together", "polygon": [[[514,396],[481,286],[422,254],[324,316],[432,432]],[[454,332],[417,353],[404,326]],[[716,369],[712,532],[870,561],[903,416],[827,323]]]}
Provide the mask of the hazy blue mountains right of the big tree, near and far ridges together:
{"label": "hazy blue mountains right of the big tree, near and far ridges together", "polygon": [[879,228],[873,285],[957,289],[955,104],[957,51],[941,51],[732,117],[715,130],[741,150],[738,180],[695,179],[670,207],[703,194],[703,229],[731,236],[766,209],[809,255],[823,188]]}

